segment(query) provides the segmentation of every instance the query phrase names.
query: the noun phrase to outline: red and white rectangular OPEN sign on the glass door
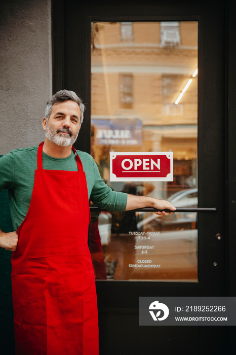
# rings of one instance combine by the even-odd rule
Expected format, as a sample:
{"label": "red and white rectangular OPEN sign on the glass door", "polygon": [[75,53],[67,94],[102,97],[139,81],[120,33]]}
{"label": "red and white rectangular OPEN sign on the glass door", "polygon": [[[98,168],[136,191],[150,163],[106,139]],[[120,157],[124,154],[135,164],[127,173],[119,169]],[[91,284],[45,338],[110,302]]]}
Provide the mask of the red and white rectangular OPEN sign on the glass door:
{"label": "red and white rectangular OPEN sign on the glass door", "polygon": [[110,152],[110,181],[173,181],[173,152]]}

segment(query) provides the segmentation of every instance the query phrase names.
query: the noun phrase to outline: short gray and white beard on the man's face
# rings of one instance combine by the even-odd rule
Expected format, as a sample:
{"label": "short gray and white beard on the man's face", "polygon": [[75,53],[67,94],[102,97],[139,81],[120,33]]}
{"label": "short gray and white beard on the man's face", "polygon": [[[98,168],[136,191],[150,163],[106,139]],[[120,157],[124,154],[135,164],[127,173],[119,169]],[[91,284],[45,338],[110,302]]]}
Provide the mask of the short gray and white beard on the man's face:
{"label": "short gray and white beard on the man's face", "polygon": [[[59,135],[58,134],[59,132],[69,133],[69,136],[67,134]],[[57,131],[55,131],[49,126],[47,122],[45,135],[49,140],[51,140],[53,143],[57,144],[58,146],[67,147],[72,145],[75,142],[78,136],[78,132],[76,135],[72,134],[71,130],[68,127],[59,128]]]}

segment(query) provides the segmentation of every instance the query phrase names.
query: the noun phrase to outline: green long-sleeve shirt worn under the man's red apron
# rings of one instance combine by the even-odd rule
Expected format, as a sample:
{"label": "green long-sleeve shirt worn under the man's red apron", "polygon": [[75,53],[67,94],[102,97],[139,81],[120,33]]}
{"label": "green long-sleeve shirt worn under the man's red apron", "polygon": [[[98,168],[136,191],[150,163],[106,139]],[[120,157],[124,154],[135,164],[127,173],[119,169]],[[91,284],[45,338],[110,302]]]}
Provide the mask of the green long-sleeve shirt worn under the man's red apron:
{"label": "green long-sleeve shirt worn under the man's red apron", "polygon": [[[0,158],[0,191],[8,189],[12,223],[15,230],[24,220],[33,191],[37,169],[38,146],[17,149]],[[127,194],[115,192],[101,179],[97,165],[88,153],[77,151],[86,174],[88,198],[94,205],[107,210],[125,210]],[[75,155],[53,158],[43,152],[43,168],[77,171]],[[65,182],[66,185],[66,182]]]}

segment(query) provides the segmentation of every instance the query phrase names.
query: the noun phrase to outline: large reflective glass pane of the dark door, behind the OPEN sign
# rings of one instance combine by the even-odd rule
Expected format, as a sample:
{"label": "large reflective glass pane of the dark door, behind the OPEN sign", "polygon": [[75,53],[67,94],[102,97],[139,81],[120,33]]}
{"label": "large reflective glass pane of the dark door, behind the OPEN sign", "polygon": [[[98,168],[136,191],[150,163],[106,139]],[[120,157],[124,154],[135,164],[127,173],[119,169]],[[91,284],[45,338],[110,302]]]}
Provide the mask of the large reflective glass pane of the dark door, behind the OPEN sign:
{"label": "large reflective glass pane of the dark door, behind the OPEN sign", "polygon": [[[115,191],[198,206],[198,23],[93,22],[92,148]],[[109,152],[173,152],[172,182],[110,182]],[[198,216],[93,212],[95,277],[198,280]]]}

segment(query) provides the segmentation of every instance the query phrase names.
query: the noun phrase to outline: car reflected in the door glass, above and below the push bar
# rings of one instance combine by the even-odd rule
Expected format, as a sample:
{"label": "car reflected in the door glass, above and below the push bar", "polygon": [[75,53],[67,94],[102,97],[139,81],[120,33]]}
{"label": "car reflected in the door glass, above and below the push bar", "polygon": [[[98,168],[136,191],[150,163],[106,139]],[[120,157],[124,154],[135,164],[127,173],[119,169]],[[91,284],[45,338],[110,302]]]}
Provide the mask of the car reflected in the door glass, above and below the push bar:
{"label": "car reflected in the door glass, above and below the push bar", "polygon": [[[178,191],[168,199],[175,207],[198,207],[198,189]],[[170,216],[158,216],[153,212],[137,215],[139,231],[188,230],[196,227],[196,212],[177,212]]]}

